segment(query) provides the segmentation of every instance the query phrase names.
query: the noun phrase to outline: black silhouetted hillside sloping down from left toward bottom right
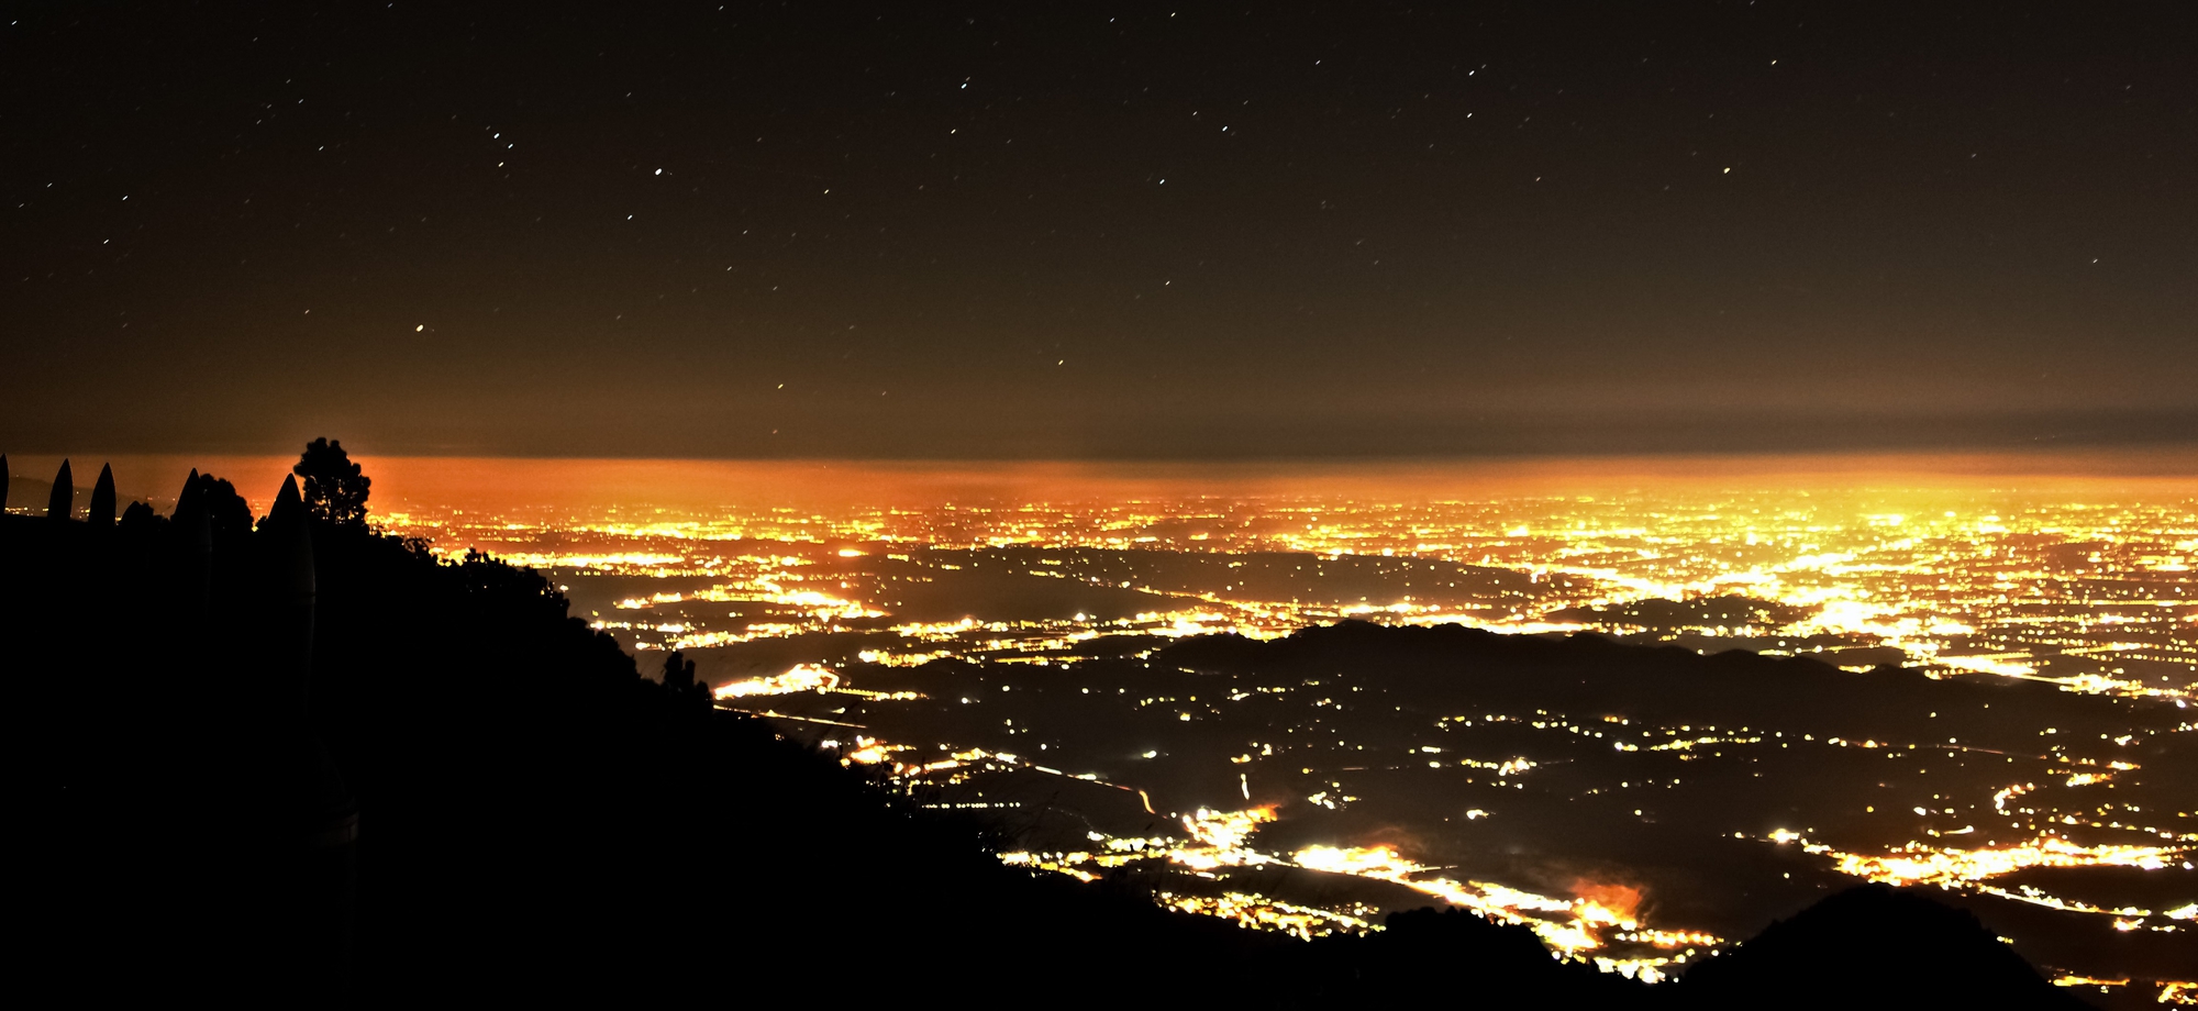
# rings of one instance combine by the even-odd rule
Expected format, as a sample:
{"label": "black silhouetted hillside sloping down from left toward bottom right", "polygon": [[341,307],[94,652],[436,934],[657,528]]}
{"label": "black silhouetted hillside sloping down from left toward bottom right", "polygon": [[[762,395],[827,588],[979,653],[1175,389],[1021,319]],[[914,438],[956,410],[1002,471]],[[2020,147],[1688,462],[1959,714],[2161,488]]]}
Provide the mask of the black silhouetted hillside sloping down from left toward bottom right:
{"label": "black silhouetted hillside sloping down from left toward bottom right", "polygon": [[976,826],[640,677],[532,571],[312,527],[290,495],[251,523],[215,492],[112,527],[0,521],[15,965],[37,982],[286,1002],[1679,993],[1459,912],[1308,945],[1029,877]]}

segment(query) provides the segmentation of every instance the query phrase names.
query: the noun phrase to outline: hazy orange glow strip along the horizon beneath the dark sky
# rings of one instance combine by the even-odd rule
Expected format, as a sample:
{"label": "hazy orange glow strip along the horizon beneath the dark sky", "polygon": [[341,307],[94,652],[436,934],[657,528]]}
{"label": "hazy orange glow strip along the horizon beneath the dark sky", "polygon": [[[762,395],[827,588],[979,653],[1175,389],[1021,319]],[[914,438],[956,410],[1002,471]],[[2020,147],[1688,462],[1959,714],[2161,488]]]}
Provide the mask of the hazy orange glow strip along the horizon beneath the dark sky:
{"label": "hazy orange glow strip along the horizon beneath the dark sky", "polygon": [[[303,442],[301,442],[303,446]],[[1462,457],[1372,462],[958,462],[958,459],[536,459],[404,457],[347,446],[374,479],[369,508],[547,510],[725,505],[936,505],[978,501],[1139,499],[1202,495],[1616,495],[1662,488],[1939,488],[1939,490],[2194,490],[2198,448],[2049,453],[1785,453]],[[198,468],[237,486],[264,514],[295,455],[73,453],[114,464],[123,497],[169,497]],[[59,455],[15,455],[13,470],[51,475]]]}

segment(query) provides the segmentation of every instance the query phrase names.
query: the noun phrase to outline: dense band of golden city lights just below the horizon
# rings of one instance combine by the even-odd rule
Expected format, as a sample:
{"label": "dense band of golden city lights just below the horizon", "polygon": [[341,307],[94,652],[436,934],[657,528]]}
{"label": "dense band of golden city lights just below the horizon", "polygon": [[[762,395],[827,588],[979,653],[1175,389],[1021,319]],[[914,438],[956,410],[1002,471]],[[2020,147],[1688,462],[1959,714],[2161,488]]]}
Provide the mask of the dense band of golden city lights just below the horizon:
{"label": "dense band of golden city lights just below the horizon", "polygon": [[[1892,505],[1908,499],[1906,505]],[[1950,508],[1947,508],[1950,505]],[[618,510],[611,510],[613,514]],[[732,624],[602,620],[637,644],[697,648],[756,642],[844,622],[890,618],[868,576],[901,565],[958,571],[923,549],[976,552],[967,565],[1007,563],[996,549],[1062,556],[1015,574],[1152,593],[1169,607],[1132,620],[1062,620],[1046,626],[972,620],[897,624],[923,648],[881,651],[886,662],[919,655],[1073,655],[1099,633],[1275,637],[1341,618],[1389,624],[1468,624],[1497,631],[1618,631],[1723,640],[1758,653],[1818,653],[1827,644],[1892,646],[1941,675],[2033,677],[2077,692],[2187,697],[2185,684],[2123,673],[2121,659],[2165,662],[2198,673],[2187,629],[2198,622],[2198,514],[2189,501],[2097,505],[1978,492],[1870,495],[1666,490],[1627,499],[1506,497],[1488,501],[1380,501],[1345,497],[1128,499],[919,510],[844,505],[824,512],[728,510],[644,516],[510,514],[510,510],[407,510],[393,532],[429,536],[455,558],[484,545],[506,560],[574,574],[708,576],[684,600],[741,602]],[[543,543],[556,538],[556,549]],[[844,547],[859,541],[866,547]],[[466,547],[459,547],[466,545]],[[2055,554],[2086,545],[2086,554]],[[1306,552],[1486,565],[1525,574],[1525,596],[1448,600],[1398,587],[1389,600],[1266,600],[1224,589],[1154,582],[1128,571],[1077,565],[1077,549]],[[1800,618],[1769,613],[1640,626],[1627,618],[1583,618],[1638,600],[1745,593]],[[622,609],[664,609],[664,593],[626,598]],[[750,613],[761,611],[761,613]],[[1558,611],[1565,611],[1558,615]],[[598,615],[602,618],[602,615]],[[993,624],[1011,624],[996,629]],[[666,631],[677,629],[677,631]],[[989,633],[989,635],[987,635]],[[974,642],[983,635],[983,642]],[[2088,657],[2095,670],[2044,673],[2053,657]],[[1838,662],[1838,657],[1833,657]],[[912,659],[903,659],[912,662]]]}

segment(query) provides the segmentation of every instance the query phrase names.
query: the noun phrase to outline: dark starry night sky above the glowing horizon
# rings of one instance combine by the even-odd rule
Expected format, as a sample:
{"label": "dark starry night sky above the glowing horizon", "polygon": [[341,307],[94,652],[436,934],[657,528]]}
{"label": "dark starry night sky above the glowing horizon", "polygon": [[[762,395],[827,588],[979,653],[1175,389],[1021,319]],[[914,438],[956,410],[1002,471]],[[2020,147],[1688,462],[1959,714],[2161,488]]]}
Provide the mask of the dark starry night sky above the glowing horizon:
{"label": "dark starry night sky above the glowing horizon", "polygon": [[2187,2],[0,18],[0,451],[2198,440]]}

